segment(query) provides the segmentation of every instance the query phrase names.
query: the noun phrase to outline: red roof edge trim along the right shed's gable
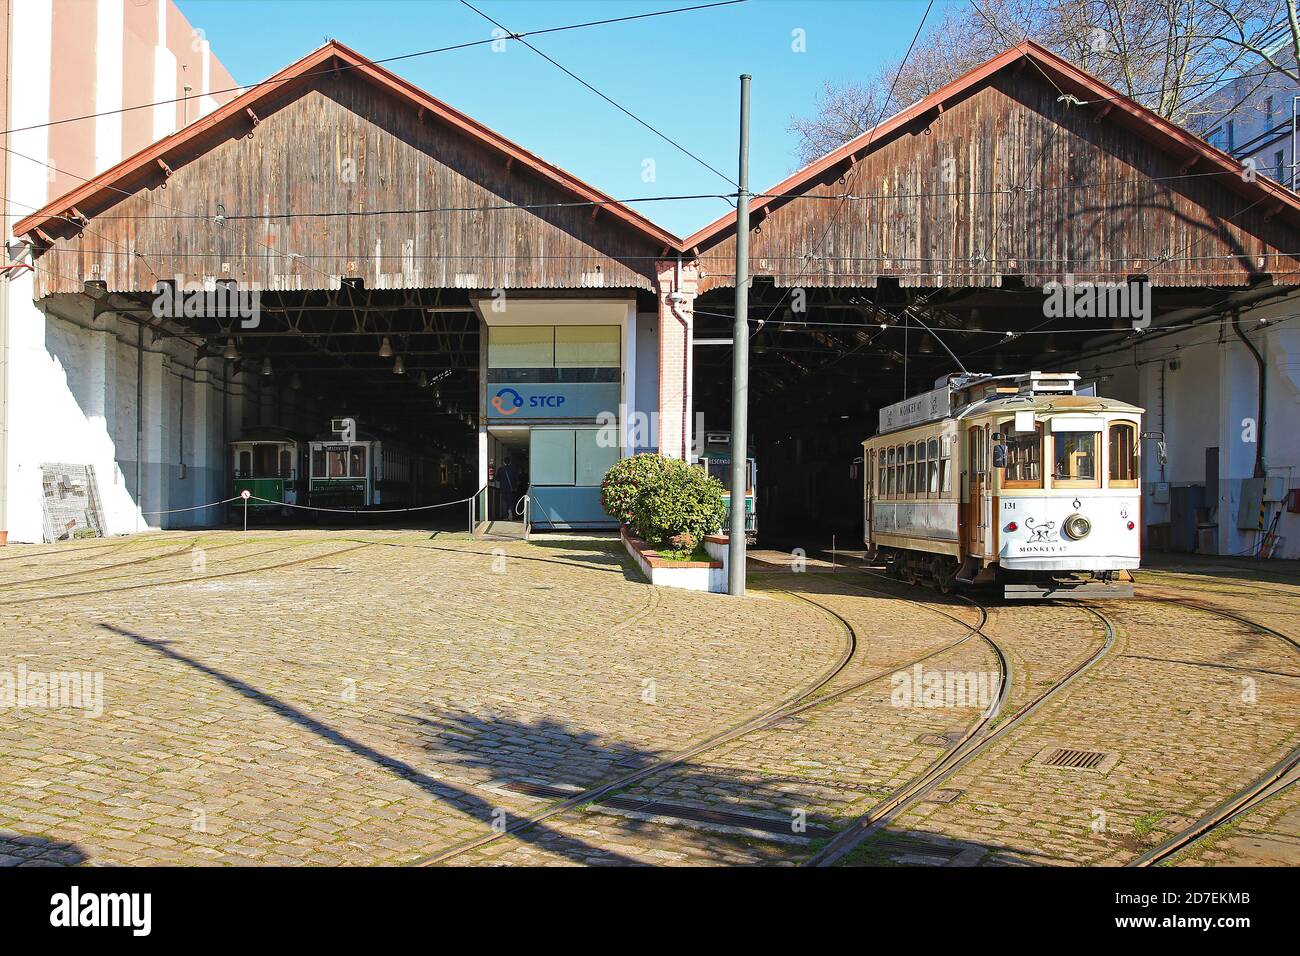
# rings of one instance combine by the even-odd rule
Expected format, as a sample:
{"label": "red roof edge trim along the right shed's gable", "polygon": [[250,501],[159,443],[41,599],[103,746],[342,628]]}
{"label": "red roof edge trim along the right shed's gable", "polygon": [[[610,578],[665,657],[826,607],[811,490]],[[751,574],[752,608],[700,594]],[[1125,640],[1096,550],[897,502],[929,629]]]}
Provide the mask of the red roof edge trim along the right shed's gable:
{"label": "red roof edge trim along the right shed's gable", "polygon": [[[1010,65],[1020,61],[1030,60],[1041,66],[1045,72],[1054,74],[1057,81],[1062,81],[1066,86],[1074,86],[1076,91],[1086,91],[1088,94],[1084,99],[1105,99],[1108,105],[1113,109],[1119,109],[1122,113],[1128,114],[1132,120],[1138,121],[1139,129],[1149,129],[1152,135],[1148,137],[1157,146],[1183,146],[1188,150],[1187,159],[1191,155],[1199,155],[1225,170],[1231,170],[1234,173],[1242,172],[1242,164],[1234,160],[1222,150],[1210,146],[1200,137],[1196,137],[1187,130],[1176,126],[1158,113],[1148,109],[1136,100],[1124,96],[1123,94],[1115,91],[1113,87],[1106,86],[1096,77],[1080,70],[1074,64],[1067,60],[1061,59],[1045,47],[1034,43],[1032,40],[1026,40],[1019,43],[1010,49],[1005,49],[992,60],[980,64],[968,73],[958,77],[957,79],[946,83],[935,92],[930,94],[922,100],[911,104],[910,107],[894,113],[884,122],[874,126],[872,129],[854,137],[844,146],[832,150],[820,159],[814,160],[802,169],[796,170],[781,182],[776,183],[771,189],[766,190],[772,194],[785,194],[792,190],[797,190],[810,179],[816,178],[827,169],[842,163],[845,159],[858,152],[859,150],[870,150],[880,144],[885,137],[888,137],[894,130],[906,126],[909,122],[922,116],[935,107],[945,103],[961,94],[966,92],[971,87],[983,83],[993,74],[1009,68]],[[1243,181],[1244,182],[1244,181]],[[1268,177],[1256,178],[1253,185],[1262,190],[1265,194],[1271,194],[1279,202],[1290,206],[1295,212],[1300,213],[1300,195],[1292,193],[1290,189],[1269,179]],[[750,215],[764,209],[771,203],[776,202],[770,196],[759,196],[751,199],[749,203]],[[728,232],[728,228],[734,228],[736,213],[723,213],[716,220],[710,222],[703,229],[688,235],[681,241],[681,251],[689,252],[693,248],[710,243],[714,239],[720,238]]]}

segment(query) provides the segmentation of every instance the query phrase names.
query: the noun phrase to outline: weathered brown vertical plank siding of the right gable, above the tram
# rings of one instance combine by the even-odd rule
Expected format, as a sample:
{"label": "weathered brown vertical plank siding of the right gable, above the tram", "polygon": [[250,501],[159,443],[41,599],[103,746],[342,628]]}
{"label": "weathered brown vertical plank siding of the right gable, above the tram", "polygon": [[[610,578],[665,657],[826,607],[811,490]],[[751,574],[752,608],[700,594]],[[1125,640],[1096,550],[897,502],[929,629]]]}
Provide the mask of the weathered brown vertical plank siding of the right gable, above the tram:
{"label": "weathered brown vertical plank siding of the right gable, above the tram", "polygon": [[[1036,70],[998,74],[931,111],[928,131],[913,124],[803,189],[862,199],[774,200],[753,228],[751,273],[841,287],[881,276],[904,286],[1300,282],[1300,229],[1270,219],[1273,203],[1205,165],[1183,170],[1188,157],[1057,96]],[[707,285],[733,285],[734,248],[729,232],[699,250]]]}

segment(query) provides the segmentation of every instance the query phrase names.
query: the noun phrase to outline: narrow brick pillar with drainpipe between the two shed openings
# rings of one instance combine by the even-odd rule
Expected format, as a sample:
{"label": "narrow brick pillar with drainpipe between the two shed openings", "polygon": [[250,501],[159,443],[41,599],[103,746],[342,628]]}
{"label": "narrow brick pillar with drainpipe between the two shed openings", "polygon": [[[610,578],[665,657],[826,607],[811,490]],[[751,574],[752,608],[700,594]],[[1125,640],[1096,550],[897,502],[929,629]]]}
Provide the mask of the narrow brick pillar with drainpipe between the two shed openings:
{"label": "narrow brick pillar with drainpipe between the two shed openings", "polygon": [[690,460],[692,343],[699,272],[694,265],[682,263],[679,267],[676,260],[668,259],[659,260],[655,267],[659,278],[659,451]]}

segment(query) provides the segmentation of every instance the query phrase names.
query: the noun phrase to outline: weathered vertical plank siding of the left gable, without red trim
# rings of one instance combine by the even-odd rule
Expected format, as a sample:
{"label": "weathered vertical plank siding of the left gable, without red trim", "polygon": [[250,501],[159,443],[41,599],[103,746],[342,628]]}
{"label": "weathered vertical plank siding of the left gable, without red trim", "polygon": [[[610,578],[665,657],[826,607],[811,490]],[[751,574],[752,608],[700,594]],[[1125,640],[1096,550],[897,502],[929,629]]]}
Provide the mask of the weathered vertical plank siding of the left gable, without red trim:
{"label": "weathered vertical plank siding of the left gable, without red trim", "polygon": [[[146,291],[176,276],[286,290],[347,277],[372,289],[654,289],[663,248],[590,206],[277,219],[577,200],[351,73],[312,78],[259,118],[188,161],[169,159],[173,176],[159,168],[84,230],[56,233],[38,295],[91,280]],[[257,219],[217,225],[218,203]]]}

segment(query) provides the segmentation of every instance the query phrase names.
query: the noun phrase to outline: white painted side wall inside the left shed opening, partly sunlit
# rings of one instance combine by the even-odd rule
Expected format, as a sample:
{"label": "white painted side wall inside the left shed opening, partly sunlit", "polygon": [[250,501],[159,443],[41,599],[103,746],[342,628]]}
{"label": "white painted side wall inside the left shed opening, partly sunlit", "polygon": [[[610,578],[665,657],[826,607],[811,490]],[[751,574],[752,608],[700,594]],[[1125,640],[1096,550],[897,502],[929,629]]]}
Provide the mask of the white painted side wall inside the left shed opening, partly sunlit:
{"label": "white painted side wall inside the left shed opening, partly sunlit", "polygon": [[[230,496],[226,446],[243,427],[320,428],[315,399],[290,390],[282,377],[266,380],[250,369],[231,375],[228,388],[228,363],[220,356],[196,368],[192,346],[176,338],[153,342],[148,332],[140,350],[135,323],[113,313],[95,317],[86,295],[56,295],[44,306],[47,311],[38,310],[42,321],[23,323],[13,341],[16,389],[39,394],[40,406],[23,402],[27,414],[10,423],[17,451],[12,541],[43,540],[42,463],[95,468],[109,535],[208,527],[224,520],[224,510],[183,509]],[[140,365],[144,423],[138,431]],[[143,497],[136,494],[136,459],[143,463]]]}

